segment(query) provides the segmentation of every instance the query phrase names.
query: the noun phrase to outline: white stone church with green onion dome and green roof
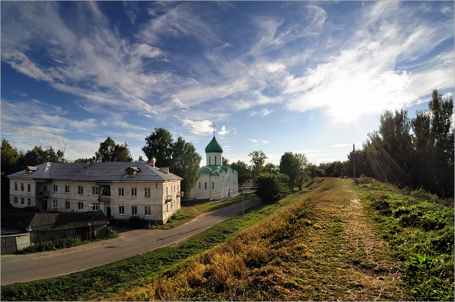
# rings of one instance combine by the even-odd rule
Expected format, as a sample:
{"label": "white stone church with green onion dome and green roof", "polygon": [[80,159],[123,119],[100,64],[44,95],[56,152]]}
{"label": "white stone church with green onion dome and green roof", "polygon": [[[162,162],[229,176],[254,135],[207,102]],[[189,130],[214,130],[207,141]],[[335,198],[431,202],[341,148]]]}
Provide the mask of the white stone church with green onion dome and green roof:
{"label": "white stone church with green onion dome and green roof", "polygon": [[223,166],[223,148],[215,138],[205,147],[206,165],[199,169],[200,178],[191,191],[194,199],[220,200],[239,194],[236,170]]}

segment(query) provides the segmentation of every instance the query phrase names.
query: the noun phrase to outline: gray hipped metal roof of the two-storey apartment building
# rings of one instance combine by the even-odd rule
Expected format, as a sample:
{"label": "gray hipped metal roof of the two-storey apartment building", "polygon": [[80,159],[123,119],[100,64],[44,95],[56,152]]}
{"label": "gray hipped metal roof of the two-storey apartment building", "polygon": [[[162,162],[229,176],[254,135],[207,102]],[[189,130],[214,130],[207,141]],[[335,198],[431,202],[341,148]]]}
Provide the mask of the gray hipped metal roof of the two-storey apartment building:
{"label": "gray hipped metal roof of the two-storey apartment building", "polygon": [[[121,181],[154,181],[166,182],[168,180],[181,180],[183,178],[161,171],[145,162],[122,162],[105,161],[93,162],[70,162],[56,163],[45,162],[36,166],[38,169],[29,174],[26,170],[8,175],[8,177],[20,177],[31,179],[61,179],[61,180],[83,180],[88,182],[112,182]],[[126,169],[138,168],[134,176],[126,175]]]}

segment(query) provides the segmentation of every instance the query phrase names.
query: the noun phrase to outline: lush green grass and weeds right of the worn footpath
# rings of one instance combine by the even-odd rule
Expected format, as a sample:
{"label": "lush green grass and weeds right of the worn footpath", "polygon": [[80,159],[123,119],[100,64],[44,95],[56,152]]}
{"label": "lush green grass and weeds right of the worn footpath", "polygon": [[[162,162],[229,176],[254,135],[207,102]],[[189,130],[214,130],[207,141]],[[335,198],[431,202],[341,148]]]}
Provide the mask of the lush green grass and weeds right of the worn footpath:
{"label": "lush green grass and weeds right of the worn footpath", "polygon": [[374,179],[358,188],[382,238],[401,261],[405,299],[453,301],[453,200],[421,190],[405,195]]}

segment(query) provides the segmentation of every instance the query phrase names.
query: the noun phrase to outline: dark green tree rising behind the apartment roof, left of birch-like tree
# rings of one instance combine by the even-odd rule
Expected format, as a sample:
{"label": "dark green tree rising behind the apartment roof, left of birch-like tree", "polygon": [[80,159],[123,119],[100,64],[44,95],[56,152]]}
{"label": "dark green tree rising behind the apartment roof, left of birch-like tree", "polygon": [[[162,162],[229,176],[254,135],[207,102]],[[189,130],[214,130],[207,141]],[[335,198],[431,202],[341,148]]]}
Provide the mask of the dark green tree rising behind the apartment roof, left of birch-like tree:
{"label": "dark green tree rising behind the apartment roof, left of birch-like tree", "polygon": [[145,138],[146,145],[141,148],[148,160],[155,159],[157,167],[170,166],[168,160],[172,157],[172,134],[164,128],[155,128]]}

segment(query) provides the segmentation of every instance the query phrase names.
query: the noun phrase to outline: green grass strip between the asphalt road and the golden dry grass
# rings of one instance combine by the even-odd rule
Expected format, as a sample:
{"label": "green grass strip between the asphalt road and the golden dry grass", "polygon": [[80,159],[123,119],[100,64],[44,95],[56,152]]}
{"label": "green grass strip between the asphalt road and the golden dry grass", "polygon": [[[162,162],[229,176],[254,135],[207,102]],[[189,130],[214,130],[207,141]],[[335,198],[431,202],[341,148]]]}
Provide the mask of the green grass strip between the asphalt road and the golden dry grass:
{"label": "green grass strip between the asphalt road and the golden dry grass", "polygon": [[244,216],[239,214],[228,218],[177,246],[156,249],[66,276],[2,285],[0,298],[9,301],[89,301],[102,295],[125,291],[150,282],[167,270],[223,243],[292,202],[292,199],[285,199],[275,204],[260,204],[246,209]]}

